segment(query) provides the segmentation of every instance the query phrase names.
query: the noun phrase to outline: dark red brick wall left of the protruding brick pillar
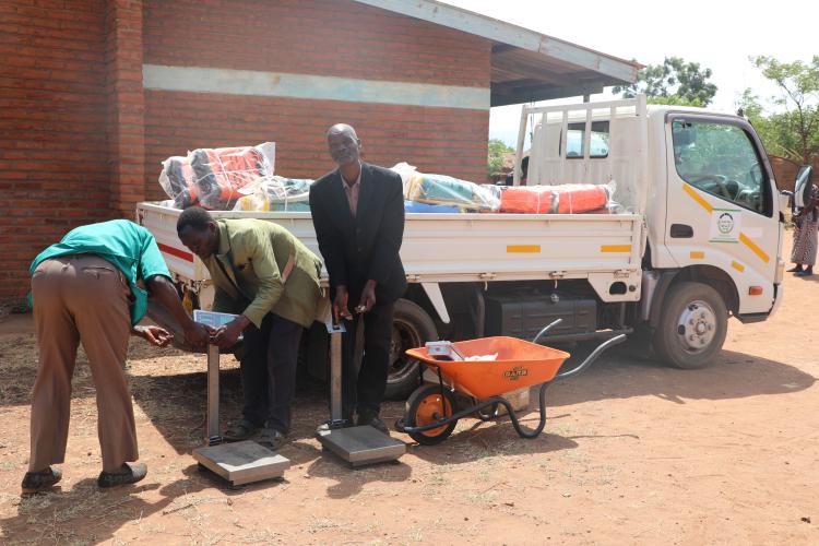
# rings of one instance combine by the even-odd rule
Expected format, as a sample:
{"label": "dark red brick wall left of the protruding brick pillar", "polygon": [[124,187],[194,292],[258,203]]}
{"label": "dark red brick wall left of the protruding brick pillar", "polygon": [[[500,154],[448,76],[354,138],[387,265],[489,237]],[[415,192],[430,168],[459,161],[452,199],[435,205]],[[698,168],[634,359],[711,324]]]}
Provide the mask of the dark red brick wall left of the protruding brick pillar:
{"label": "dark red brick wall left of the protruding brick pillar", "polygon": [[110,214],[104,43],[103,0],[0,2],[0,300],[26,293],[43,248]]}

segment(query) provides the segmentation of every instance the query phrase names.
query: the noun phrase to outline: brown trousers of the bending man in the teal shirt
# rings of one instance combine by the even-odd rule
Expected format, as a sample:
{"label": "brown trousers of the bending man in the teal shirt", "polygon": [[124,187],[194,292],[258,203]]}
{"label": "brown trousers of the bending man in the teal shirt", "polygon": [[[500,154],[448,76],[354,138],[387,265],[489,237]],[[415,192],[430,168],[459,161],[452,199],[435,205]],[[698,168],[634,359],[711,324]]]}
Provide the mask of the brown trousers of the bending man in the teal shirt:
{"label": "brown trousers of the bending man in the teal shirt", "polygon": [[91,254],[41,262],[32,277],[39,369],[32,401],[32,453],[38,472],[66,459],[71,377],[82,341],[97,393],[97,434],[103,470],[139,459],[136,427],[124,365],[131,331],[124,275]]}

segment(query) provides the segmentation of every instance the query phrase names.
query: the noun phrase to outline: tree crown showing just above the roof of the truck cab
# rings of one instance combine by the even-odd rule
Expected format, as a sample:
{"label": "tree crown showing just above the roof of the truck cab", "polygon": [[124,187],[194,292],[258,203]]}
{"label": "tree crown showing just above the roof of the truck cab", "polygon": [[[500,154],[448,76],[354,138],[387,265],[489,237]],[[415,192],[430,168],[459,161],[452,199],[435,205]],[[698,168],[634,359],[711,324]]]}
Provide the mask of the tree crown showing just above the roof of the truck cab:
{"label": "tree crown showing just above the roof of the truck cab", "polygon": [[645,93],[650,104],[708,106],[716,94],[710,83],[711,69],[700,69],[699,62],[686,62],[679,57],[666,57],[662,64],[649,64],[637,74],[637,83],[616,85],[612,92],[622,98]]}

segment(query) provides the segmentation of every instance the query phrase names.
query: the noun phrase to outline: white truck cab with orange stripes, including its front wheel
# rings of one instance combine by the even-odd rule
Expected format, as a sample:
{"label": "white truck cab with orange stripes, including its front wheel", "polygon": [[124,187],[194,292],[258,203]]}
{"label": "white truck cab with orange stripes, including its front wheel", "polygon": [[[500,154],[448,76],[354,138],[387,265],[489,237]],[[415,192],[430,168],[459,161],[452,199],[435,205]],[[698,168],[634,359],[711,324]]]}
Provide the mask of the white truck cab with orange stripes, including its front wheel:
{"label": "white truck cab with orange stripes, including its front wheel", "polygon": [[729,316],[756,322],[775,311],[783,205],[745,118],[648,106],[643,96],[524,107],[519,155],[527,121],[527,185],[614,180],[621,204],[644,216],[640,305],[624,322],[648,327],[661,358],[704,366],[722,347]]}

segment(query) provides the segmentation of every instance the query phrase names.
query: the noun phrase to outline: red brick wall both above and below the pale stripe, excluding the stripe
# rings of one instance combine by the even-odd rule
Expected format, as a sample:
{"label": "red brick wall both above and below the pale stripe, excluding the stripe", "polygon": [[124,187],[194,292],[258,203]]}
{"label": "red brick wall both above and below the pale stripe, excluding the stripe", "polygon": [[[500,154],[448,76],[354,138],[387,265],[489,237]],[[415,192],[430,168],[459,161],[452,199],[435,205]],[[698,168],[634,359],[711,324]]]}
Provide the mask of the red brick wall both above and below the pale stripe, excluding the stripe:
{"label": "red brick wall both above and below the pale stripe, excluding the stripe", "polygon": [[[335,75],[439,85],[489,85],[488,40],[349,0],[145,1],[150,64]],[[331,168],[324,134],[353,124],[366,161],[483,181],[489,112],[146,91],[147,199],[165,199],[159,162],[201,146],[276,142],[276,173]]]}

